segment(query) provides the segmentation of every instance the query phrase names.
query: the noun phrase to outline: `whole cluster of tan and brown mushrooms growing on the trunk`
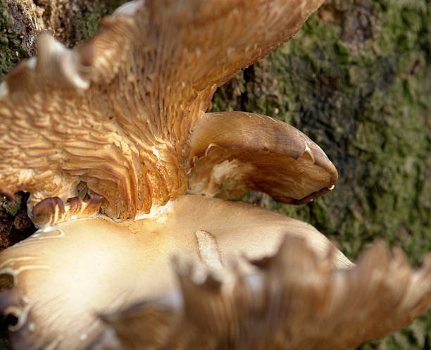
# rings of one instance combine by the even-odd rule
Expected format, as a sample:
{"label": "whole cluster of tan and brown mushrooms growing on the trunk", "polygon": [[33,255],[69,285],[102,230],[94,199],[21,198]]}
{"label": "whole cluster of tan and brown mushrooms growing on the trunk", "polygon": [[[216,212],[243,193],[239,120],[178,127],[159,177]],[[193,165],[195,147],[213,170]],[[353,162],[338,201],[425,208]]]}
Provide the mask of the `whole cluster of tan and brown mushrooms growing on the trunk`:
{"label": "whole cluster of tan and brown mushrooms growing on the trunk", "polygon": [[[206,113],[322,0],[138,0],[75,49],[39,36],[0,86],[0,192],[39,230],[0,254],[18,350],[345,349],[431,304],[431,256],[351,263],[302,204],[337,170],[294,127]],[[217,198],[215,198],[217,197]]]}

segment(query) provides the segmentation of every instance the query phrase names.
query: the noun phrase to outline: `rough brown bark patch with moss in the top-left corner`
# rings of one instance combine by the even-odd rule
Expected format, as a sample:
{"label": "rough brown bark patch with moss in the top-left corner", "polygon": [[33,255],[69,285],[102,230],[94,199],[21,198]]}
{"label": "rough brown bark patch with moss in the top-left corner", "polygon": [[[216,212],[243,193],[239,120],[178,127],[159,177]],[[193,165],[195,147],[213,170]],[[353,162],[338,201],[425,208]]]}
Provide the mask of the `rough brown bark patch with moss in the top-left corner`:
{"label": "rough brown bark patch with moss in the top-left corner", "polygon": [[126,0],[1,0],[0,80],[36,54],[36,37],[48,30],[65,46],[91,37],[99,20]]}

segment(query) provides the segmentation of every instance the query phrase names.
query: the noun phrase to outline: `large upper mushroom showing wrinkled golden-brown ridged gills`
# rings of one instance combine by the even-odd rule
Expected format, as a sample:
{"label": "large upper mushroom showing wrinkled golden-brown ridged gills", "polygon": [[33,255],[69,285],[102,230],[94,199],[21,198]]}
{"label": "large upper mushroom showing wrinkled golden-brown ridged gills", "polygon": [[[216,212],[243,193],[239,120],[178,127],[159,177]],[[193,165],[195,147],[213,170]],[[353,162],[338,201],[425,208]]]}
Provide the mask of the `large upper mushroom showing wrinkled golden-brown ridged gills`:
{"label": "large upper mushroom showing wrinkled golden-brown ridged gills", "polygon": [[[0,193],[135,218],[187,190],[189,133],[216,87],[287,42],[323,0],[131,1],[74,50],[45,34],[0,87]],[[78,201],[84,183],[99,206]],[[82,199],[82,198],[81,198]],[[56,203],[59,203],[55,200]]]}

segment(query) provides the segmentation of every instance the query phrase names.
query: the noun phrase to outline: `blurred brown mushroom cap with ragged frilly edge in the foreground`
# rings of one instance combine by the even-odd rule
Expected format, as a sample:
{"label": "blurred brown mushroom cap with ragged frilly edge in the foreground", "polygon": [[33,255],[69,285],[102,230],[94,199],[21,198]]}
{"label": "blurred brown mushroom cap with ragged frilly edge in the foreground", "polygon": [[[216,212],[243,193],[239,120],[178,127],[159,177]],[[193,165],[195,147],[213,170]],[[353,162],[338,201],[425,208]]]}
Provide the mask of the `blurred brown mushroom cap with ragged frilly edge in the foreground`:
{"label": "blurred brown mushroom cap with ragged frilly edge in the foreground", "polygon": [[288,236],[259,265],[228,283],[211,273],[196,282],[180,268],[180,295],[104,315],[115,342],[106,333],[111,338],[91,349],[341,350],[385,337],[431,306],[431,256],[415,271],[381,242],[356,267],[339,270],[330,256]]}

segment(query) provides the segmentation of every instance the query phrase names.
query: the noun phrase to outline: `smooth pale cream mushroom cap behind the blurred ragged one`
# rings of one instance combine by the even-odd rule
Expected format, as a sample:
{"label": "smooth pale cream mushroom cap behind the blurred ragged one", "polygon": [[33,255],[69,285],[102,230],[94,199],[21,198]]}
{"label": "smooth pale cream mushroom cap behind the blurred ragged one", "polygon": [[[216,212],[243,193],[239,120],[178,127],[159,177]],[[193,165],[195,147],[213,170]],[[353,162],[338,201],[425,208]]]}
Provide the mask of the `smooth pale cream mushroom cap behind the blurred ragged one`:
{"label": "smooth pale cream mushroom cap behind the blurred ragged one", "polygon": [[97,314],[175,290],[174,256],[221,277],[232,261],[249,273],[242,256],[271,256],[285,235],[304,237],[322,258],[332,252],[340,268],[352,265],[299,220],[249,204],[182,196],[153,217],[73,220],[6,249],[0,309],[18,318],[10,332],[14,349],[84,349],[105,327]]}

